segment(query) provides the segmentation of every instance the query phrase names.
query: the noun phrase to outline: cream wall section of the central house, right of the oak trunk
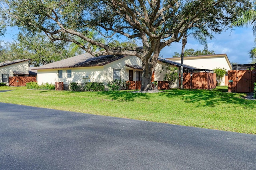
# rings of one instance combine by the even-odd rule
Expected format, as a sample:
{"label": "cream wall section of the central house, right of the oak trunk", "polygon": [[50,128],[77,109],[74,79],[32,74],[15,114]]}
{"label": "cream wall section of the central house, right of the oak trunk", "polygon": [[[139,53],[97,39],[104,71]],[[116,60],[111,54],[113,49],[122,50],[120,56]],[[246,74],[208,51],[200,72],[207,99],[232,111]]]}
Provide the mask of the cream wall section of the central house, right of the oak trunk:
{"label": "cream wall section of the central house, right of the oak trunk", "polygon": [[[155,76],[154,76],[154,81],[163,81],[164,79],[164,74],[166,74],[166,69],[165,66],[167,66],[166,63],[162,62],[157,62],[156,68],[155,68]],[[175,67],[170,65],[171,67]],[[178,74],[180,73],[179,69],[177,68]],[[179,88],[179,79],[177,79],[176,84],[172,86],[172,88]]]}

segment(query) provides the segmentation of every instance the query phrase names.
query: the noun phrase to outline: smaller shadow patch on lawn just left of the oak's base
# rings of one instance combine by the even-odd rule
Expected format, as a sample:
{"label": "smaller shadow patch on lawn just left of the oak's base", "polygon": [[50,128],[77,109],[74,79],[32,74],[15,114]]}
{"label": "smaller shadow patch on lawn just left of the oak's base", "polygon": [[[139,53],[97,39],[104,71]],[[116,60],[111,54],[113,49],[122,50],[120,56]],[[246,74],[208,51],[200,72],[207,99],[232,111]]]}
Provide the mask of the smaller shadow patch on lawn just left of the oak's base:
{"label": "smaller shadow patch on lawn just left of the oak's base", "polygon": [[149,99],[150,96],[146,93],[133,93],[132,91],[128,90],[121,90],[121,91],[102,91],[96,92],[99,95],[107,96],[111,100],[118,100],[120,102],[129,102],[134,101],[135,98],[140,99]]}

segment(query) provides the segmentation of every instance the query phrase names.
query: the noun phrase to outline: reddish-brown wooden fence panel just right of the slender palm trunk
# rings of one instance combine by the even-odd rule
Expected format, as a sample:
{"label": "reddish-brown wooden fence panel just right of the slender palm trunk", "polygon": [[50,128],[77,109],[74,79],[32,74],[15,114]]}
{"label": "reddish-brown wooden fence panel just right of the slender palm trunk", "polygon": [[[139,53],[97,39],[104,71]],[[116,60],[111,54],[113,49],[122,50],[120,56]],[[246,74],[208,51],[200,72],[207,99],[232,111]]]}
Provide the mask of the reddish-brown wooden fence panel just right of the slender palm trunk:
{"label": "reddish-brown wooden fence panel just right of the slender palm trunk", "polygon": [[[192,79],[192,83],[191,83]],[[180,86],[180,81],[179,81]],[[183,73],[184,89],[214,89],[216,88],[216,74],[210,72]]]}

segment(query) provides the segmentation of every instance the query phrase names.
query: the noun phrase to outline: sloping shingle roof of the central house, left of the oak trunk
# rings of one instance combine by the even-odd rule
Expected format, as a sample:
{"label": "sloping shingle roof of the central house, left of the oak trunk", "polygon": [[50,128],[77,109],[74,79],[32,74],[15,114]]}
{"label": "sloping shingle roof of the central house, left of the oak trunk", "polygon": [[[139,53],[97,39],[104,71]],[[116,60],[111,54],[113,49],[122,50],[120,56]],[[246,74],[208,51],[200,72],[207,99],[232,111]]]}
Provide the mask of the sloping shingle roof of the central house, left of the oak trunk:
{"label": "sloping shingle roof of the central house, left of the oak trunk", "polygon": [[123,58],[124,55],[103,55],[99,57],[93,57],[89,53],[77,55],[57,61],[54,63],[46,64],[43,66],[32,68],[32,70],[54,69],[54,68],[72,68],[72,67],[88,67],[88,66],[103,66],[118,59]]}

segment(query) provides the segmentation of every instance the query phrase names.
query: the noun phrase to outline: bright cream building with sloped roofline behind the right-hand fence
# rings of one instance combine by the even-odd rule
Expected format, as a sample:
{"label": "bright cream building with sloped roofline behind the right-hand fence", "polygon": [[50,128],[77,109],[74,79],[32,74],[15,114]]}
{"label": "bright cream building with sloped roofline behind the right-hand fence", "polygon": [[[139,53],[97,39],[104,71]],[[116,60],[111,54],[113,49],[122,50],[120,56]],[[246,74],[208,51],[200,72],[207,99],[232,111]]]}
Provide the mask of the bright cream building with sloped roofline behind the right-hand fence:
{"label": "bright cream building with sloped roofline behind the right-hand fence", "polygon": [[[180,63],[180,57],[167,58],[166,60],[175,61]],[[226,70],[232,70],[232,65],[226,54],[218,55],[201,55],[184,57],[184,64],[198,68],[199,70],[213,70],[214,68],[226,68]],[[184,71],[186,72],[186,71]],[[225,84],[225,78],[223,78],[220,85]]]}

